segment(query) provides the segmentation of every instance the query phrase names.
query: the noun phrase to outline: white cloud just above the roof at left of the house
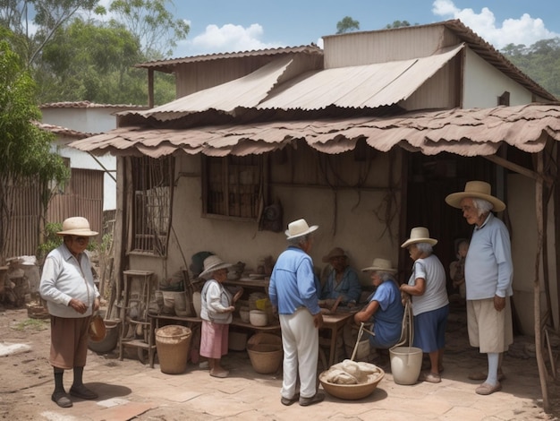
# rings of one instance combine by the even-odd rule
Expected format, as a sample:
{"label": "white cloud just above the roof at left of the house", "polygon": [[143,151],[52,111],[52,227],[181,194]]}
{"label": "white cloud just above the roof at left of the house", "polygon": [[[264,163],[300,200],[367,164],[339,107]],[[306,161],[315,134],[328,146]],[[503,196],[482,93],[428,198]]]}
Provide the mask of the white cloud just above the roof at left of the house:
{"label": "white cloud just above the roof at left of the house", "polygon": [[284,47],[280,43],[261,41],[263,34],[264,30],[258,23],[253,23],[248,28],[231,23],[222,27],[208,25],[203,33],[193,39],[181,41],[177,49],[187,51],[190,56]]}

